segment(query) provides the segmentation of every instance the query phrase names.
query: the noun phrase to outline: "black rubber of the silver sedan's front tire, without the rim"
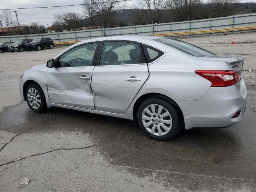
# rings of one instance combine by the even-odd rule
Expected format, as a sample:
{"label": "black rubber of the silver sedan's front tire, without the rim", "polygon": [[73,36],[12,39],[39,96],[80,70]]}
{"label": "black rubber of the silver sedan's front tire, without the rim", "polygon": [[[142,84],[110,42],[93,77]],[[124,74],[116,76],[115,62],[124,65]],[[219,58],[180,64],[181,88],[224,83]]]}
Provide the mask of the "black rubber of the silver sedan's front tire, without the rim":
{"label": "black rubber of the silver sedan's front tire, without the rim", "polygon": [[[31,105],[30,105],[30,102],[28,101],[28,91],[30,90],[30,88],[34,88],[38,93],[39,93],[39,96],[40,96],[40,100],[41,100],[41,104],[39,106],[39,108],[35,109],[33,108]],[[45,96],[44,96],[44,92],[41,90],[41,88],[36,85],[36,84],[30,84],[28,85],[27,89],[26,89],[26,100],[27,100],[27,103],[28,103],[28,106],[30,107],[30,109],[32,109],[34,112],[37,112],[37,113],[41,113],[41,112],[44,112],[46,109],[47,109],[47,105],[46,105],[46,101],[45,101]]]}

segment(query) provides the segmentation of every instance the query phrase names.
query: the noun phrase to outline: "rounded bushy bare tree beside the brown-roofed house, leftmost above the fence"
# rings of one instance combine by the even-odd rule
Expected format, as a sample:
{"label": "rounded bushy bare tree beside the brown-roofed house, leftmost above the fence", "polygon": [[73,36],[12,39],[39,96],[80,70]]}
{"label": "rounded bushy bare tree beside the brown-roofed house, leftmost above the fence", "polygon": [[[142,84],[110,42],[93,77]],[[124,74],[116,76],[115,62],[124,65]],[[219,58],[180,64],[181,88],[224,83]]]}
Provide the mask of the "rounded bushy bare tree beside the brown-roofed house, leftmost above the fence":
{"label": "rounded bushy bare tree beside the brown-roofed house, leftmost above the fence", "polygon": [[75,12],[62,12],[62,14],[55,14],[54,18],[57,25],[63,26],[65,29],[74,31],[80,27],[82,16],[79,13]]}

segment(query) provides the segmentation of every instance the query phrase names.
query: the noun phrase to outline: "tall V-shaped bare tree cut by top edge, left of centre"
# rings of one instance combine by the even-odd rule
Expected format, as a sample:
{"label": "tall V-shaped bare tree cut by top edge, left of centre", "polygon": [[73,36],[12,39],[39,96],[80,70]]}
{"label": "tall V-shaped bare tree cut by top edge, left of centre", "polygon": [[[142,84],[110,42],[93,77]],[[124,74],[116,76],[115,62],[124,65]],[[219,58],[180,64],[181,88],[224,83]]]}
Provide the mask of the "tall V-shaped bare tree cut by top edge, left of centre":
{"label": "tall V-shaped bare tree cut by top edge, left of centre", "polygon": [[95,4],[96,13],[102,17],[108,28],[112,16],[126,6],[125,2],[117,2],[116,0],[92,0],[92,2]]}

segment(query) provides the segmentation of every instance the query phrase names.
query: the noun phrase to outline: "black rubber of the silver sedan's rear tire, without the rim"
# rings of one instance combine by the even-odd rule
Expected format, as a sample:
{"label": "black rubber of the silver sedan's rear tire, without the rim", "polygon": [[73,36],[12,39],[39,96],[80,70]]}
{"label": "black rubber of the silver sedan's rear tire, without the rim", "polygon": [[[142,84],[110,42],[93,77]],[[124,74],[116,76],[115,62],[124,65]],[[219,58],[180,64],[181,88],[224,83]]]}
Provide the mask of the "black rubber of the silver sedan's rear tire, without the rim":
{"label": "black rubber of the silver sedan's rear tire, without the rim", "polygon": [[[142,122],[143,110],[147,106],[150,106],[151,104],[163,106],[170,113],[170,116],[172,118],[172,126],[170,128],[170,131],[162,136],[157,136],[157,135],[151,134],[143,125],[143,122]],[[153,138],[155,140],[160,140],[160,141],[166,141],[166,140],[170,140],[170,139],[174,138],[178,134],[178,132],[180,131],[180,129],[182,128],[182,125],[183,125],[182,117],[179,114],[179,110],[176,107],[176,105],[173,104],[172,102],[167,102],[166,100],[162,99],[161,97],[152,97],[152,98],[149,98],[148,100],[145,100],[144,102],[142,102],[142,104],[138,108],[137,119],[138,119],[138,124],[139,124],[140,128],[143,130],[143,132],[147,136],[149,136],[150,138]],[[153,119],[152,119],[152,121],[153,121]],[[148,122],[150,122],[150,121],[148,121]],[[152,124],[160,125],[160,122],[161,121],[159,119],[157,119],[157,121],[154,120]],[[161,129],[163,130],[163,132],[165,131],[162,127],[161,127]],[[156,128],[156,133],[158,133],[157,128]]]}

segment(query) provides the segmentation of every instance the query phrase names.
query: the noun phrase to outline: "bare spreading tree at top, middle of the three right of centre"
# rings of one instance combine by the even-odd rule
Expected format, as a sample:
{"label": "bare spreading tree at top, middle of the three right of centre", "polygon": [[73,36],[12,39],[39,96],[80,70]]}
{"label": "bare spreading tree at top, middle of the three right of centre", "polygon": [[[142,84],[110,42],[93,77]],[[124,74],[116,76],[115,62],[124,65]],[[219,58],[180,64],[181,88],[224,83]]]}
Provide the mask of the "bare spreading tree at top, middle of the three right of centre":
{"label": "bare spreading tree at top, middle of the three right of centre", "polygon": [[200,5],[202,0],[169,0],[168,5],[172,9],[174,17],[179,21],[187,21]]}

